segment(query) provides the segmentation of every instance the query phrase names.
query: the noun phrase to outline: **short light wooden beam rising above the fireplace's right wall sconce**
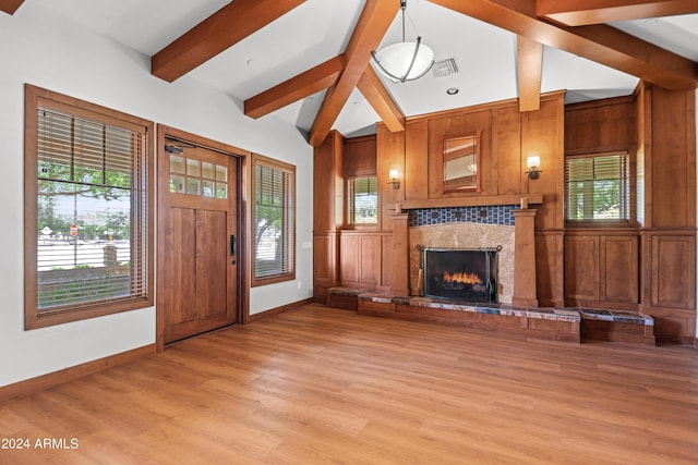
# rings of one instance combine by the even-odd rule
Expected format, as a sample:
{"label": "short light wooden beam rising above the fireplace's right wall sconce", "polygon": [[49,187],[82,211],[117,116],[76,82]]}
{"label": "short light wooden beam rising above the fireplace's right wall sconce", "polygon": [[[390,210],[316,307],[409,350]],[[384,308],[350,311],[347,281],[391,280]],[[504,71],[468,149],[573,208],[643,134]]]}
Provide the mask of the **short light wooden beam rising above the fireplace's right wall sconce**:
{"label": "short light wooden beam rising above the fireplace's right wall sconce", "polygon": [[543,45],[528,37],[516,38],[516,74],[519,87],[519,111],[541,108]]}

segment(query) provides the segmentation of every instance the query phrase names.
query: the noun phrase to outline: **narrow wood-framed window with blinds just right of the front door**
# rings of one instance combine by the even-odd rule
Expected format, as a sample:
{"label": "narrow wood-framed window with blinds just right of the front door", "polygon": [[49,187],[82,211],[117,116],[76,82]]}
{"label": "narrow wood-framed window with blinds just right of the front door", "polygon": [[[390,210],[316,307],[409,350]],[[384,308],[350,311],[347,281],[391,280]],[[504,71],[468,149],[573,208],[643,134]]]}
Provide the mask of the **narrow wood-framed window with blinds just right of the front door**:
{"label": "narrow wood-framed window with blinds just right of the front door", "polygon": [[296,250],[296,167],[254,157],[253,285],[292,280]]}

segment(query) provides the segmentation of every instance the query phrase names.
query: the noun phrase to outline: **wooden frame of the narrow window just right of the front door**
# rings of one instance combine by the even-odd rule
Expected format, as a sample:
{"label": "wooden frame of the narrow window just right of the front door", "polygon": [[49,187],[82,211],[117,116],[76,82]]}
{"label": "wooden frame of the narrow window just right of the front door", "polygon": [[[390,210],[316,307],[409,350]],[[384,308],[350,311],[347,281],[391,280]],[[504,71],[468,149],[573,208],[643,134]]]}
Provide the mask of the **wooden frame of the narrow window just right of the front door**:
{"label": "wooden frame of the narrow window just right of the front door", "polygon": [[[291,194],[291,209],[290,220],[292,224],[290,228],[284,228],[282,234],[292,234],[289,238],[287,236],[282,237],[281,241],[284,243],[290,243],[287,247],[287,252],[291,254],[290,259],[286,260],[290,270],[282,271],[276,274],[268,274],[264,277],[256,276],[256,167],[263,166],[266,168],[270,168],[273,170],[278,170],[284,172],[285,174],[290,175],[290,186],[287,186],[285,196],[284,196],[284,205],[288,204],[287,195]],[[273,284],[277,282],[292,281],[296,280],[296,245],[297,245],[297,232],[296,232],[296,212],[297,212],[297,192],[296,192],[296,166],[286,163],[284,161],[279,161],[269,157],[265,157],[258,154],[252,154],[252,163],[251,163],[251,175],[250,175],[250,189],[251,189],[251,270],[250,270],[250,286],[255,287],[260,285]],[[285,207],[286,209],[286,207]],[[287,217],[287,212],[282,213],[284,218]]]}

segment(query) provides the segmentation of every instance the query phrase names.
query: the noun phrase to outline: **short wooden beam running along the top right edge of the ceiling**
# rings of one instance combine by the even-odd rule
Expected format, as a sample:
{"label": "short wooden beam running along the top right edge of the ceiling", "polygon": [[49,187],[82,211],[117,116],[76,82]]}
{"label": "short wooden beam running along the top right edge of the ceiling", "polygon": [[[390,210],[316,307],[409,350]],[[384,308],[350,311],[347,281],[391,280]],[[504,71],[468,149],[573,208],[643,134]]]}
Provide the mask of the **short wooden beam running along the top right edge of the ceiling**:
{"label": "short wooden beam running along the top right edge of the ceiling", "polygon": [[568,26],[698,13],[696,0],[538,0],[535,14]]}

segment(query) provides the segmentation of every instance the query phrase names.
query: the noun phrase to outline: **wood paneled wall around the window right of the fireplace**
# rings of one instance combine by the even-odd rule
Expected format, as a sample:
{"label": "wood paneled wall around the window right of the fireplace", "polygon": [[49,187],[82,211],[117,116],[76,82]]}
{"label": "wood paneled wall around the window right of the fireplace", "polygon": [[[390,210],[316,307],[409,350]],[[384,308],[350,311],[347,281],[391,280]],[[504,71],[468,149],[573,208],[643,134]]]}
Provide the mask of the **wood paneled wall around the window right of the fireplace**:
{"label": "wood paneled wall around the window right of the fireplace", "polygon": [[641,311],[654,318],[658,341],[693,343],[695,118],[694,93],[650,85],[566,107],[565,152],[627,150],[636,185],[628,227],[566,228],[566,305]]}

